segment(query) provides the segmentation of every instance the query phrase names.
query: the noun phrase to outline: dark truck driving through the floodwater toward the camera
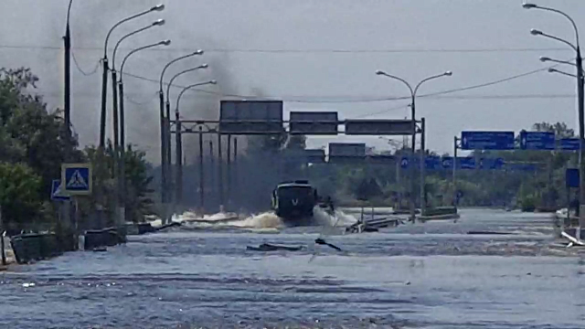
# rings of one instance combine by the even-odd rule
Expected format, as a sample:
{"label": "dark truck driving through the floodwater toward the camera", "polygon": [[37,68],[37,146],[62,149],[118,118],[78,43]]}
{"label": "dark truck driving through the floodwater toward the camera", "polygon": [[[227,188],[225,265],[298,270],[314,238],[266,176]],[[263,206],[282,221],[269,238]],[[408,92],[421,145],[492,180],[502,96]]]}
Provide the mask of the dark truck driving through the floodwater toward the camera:
{"label": "dark truck driving through the floodwater toward the camera", "polygon": [[283,182],[272,191],[271,208],[288,224],[301,224],[313,218],[319,201],[317,190],[308,181]]}

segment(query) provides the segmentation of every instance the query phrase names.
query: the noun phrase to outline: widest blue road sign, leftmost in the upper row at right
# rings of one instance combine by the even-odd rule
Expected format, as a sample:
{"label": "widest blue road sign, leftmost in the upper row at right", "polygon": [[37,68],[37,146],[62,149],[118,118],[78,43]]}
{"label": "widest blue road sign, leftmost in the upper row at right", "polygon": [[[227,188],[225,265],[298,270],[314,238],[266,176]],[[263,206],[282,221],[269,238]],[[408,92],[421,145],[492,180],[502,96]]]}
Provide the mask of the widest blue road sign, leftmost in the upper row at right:
{"label": "widest blue road sign, leftmost in the upper row at right", "polygon": [[513,150],[514,132],[461,132],[462,150]]}

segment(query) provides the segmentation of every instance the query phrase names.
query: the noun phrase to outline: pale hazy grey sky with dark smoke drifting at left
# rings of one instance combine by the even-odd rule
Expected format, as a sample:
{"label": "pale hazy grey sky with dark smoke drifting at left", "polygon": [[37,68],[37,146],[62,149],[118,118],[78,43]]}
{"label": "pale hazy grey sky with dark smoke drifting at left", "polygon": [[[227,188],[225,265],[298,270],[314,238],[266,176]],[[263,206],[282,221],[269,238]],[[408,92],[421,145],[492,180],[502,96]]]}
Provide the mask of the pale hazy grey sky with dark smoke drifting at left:
{"label": "pale hazy grey sky with dark smoke drifting at left", "polygon": [[[129,48],[165,38],[173,44],[136,55],[127,72],[158,80],[165,62],[203,48],[207,50],[203,57],[177,65],[169,76],[207,62],[211,68],[206,73],[190,73],[176,82],[217,79],[218,86],[205,89],[282,99],[286,111],[339,111],[344,119],[410,117],[409,101],[377,101],[408,95],[398,81],[376,76],[377,69],[412,84],[452,70],[452,77],[423,85],[422,95],[546,68],[539,56],[574,57],[567,46],[529,34],[536,27],[573,41],[569,21],[523,9],[521,0],[74,0],[71,28],[80,69],[93,72],[114,23],[160,1],[166,5],[164,12],[122,25],[112,35],[111,45],[159,17],[166,19],[165,27],[127,39],[118,61]],[[61,37],[68,3],[2,0],[0,4],[4,18],[0,66],[34,69],[41,79],[39,92],[51,107],[62,106]],[[584,1],[539,0],[537,4],[566,11],[585,33]],[[563,69],[573,73],[572,67]],[[98,139],[100,71],[86,76],[72,69],[71,115],[81,143]],[[132,77],[124,81],[128,141],[143,146],[157,162],[157,83]],[[452,152],[452,138],[462,130],[517,132],[534,122],[567,122],[575,127],[575,89],[569,77],[542,71],[485,88],[420,98],[417,118],[427,120],[429,148]],[[189,93],[181,102],[184,117],[217,119],[220,98]],[[344,136],[312,138],[310,146],[333,140],[386,147],[376,137]]]}

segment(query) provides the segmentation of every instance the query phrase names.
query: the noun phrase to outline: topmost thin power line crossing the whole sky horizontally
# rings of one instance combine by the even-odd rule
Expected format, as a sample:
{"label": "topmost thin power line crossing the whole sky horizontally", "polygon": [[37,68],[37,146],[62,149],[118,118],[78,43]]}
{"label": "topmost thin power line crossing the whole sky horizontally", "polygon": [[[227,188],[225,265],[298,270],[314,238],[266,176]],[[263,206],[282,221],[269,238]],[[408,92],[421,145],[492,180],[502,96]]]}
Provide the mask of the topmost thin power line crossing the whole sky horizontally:
{"label": "topmost thin power line crossing the whole sky horizontally", "polygon": [[[36,45],[0,45],[5,49],[37,49],[37,50],[60,50],[55,46],[36,46]],[[77,50],[102,51],[98,47],[76,47]],[[120,48],[121,50],[132,50],[133,48]],[[149,48],[144,51],[158,52],[189,52],[196,48]],[[388,49],[343,49],[343,48],[306,48],[306,49],[261,49],[261,48],[206,48],[206,52],[217,53],[264,53],[264,54],[375,54],[375,53],[489,53],[489,52],[542,52],[542,51],[568,51],[567,48],[388,48]]]}

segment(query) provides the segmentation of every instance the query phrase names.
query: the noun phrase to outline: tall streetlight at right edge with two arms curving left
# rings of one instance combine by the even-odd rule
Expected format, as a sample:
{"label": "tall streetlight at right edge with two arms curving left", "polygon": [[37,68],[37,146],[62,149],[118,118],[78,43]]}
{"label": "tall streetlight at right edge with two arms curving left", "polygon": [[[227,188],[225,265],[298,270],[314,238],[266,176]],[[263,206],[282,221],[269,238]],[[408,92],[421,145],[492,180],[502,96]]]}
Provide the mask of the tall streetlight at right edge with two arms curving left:
{"label": "tall streetlight at right edge with two arms curving left", "polygon": [[552,38],[554,40],[557,40],[559,42],[562,42],[566,45],[568,45],[570,48],[573,48],[575,50],[576,53],[576,68],[577,68],[577,103],[578,103],[578,111],[579,111],[579,140],[580,140],[580,148],[579,148],[579,174],[580,174],[580,211],[579,211],[579,229],[577,230],[577,239],[580,239],[580,228],[585,226],[585,160],[583,159],[583,146],[584,143],[583,141],[585,140],[585,92],[583,90],[583,88],[585,87],[585,84],[583,83],[583,58],[581,56],[581,50],[580,50],[580,37],[579,37],[579,28],[577,27],[577,24],[575,23],[575,20],[569,16],[567,13],[560,11],[558,9],[555,8],[551,8],[551,7],[547,7],[547,6],[541,6],[541,5],[536,5],[536,4],[522,4],[522,6],[526,9],[540,9],[540,10],[544,10],[544,11],[548,11],[548,12],[552,12],[555,14],[558,14],[560,16],[564,16],[565,18],[567,18],[570,22],[570,24],[573,26],[573,29],[575,31],[575,44],[573,45],[572,43],[570,43],[569,41],[566,41],[564,39],[561,39],[559,37],[554,37],[554,36],[550,36],[548,34],[542,33],[541,31],[538,31],[536,29],[532,29],[530,31],[530,33],[534,36],[542,36],[542,37],[548,37],[548,38]]}

